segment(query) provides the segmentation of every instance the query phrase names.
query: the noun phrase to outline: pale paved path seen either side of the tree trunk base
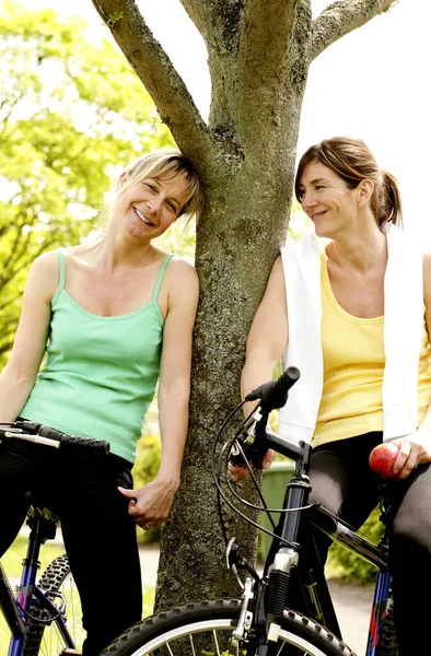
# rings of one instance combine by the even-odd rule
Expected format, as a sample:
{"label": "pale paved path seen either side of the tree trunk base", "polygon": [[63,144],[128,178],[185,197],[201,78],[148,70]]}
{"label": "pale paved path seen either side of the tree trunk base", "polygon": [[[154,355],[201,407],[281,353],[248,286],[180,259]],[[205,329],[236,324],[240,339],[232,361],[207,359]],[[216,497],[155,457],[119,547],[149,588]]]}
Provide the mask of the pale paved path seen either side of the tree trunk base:
{"label": "pale paved path seen either side of the tree trunk base", "polygon": [[[155,586],[159,547],[148,546],[140,549],[142,583]],[[329,582],[334,606],[340,623],[342,637],[351,649],[363,656],[370,624],[370,612],[373,600],[372,585],[345,585]]]}

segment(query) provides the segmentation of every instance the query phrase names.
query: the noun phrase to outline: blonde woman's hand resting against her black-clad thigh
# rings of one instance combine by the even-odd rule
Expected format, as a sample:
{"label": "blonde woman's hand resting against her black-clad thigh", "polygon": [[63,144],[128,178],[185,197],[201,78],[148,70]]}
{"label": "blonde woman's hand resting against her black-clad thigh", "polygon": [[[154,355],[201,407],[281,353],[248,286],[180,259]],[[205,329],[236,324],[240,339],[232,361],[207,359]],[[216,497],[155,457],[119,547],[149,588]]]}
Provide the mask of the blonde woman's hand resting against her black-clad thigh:
{"label": "blonde woman's hand resting against her black-clad thigh", "polygon": [[144,530],[159,528],[167,519],[176,489],[172,481],[158,478],[137,490],[118,488],[129,499],[129,515]]}

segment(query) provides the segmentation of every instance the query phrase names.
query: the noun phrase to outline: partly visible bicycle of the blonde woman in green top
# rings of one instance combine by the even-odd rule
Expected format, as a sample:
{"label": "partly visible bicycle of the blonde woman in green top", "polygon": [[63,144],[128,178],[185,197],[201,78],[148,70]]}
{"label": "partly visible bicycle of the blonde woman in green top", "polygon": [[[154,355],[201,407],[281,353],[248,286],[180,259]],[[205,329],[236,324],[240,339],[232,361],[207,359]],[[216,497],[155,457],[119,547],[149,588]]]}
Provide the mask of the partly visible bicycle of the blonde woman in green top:
{"label": "partly visible bicycle of the blonde woman in green top", "polygon": [[[2,440],[23,440],[53,448],[78,448],[86,454],[109,452],[107,442],[68,435],[26,420],[0,423]],[[56,558],[36,585],[40,548],[46,540],[55,538],[59,518],[31,495],[30,503],[27,525],[31,532],[15,594],[0,563],[0,608],[11,633],[8,656],[79,655],[79,642],[83,640],[80,600],[67,555]]]}

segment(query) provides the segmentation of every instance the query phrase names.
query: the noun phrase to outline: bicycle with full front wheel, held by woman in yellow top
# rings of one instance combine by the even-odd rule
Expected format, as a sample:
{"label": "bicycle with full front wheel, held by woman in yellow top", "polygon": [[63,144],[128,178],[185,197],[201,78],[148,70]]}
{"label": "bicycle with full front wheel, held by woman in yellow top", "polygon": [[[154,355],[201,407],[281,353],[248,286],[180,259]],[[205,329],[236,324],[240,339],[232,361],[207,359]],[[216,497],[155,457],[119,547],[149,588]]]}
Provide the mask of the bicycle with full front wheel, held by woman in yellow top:
{"label": "bicycle with full front wheel, held by woman in yellow top", "polygon": [[[224,442],[217,456],[220,435],[242,407],[243,403],[240,403],[224,421],[213,445],[213,476],[219,493],[248,523],[269,532],[273,540],[277,540],[276,553],[268,572],[259,577],[255,570],[241,559],[235,538],[232,538],[228,544],[226,560],[228,566],[233,570],[242,587],[240,599],[205,600],[161,612],[123,633],[102,653],[103,656],[354,656],[353,651],[341,639],[326,579],[313,567],[316,557],[313,553],[313,543],[301,543],[300,528],[303,523],[312,523],[333,540],[377,567],[366,656],[396,655],[396,640],[392,621],[387,618],[391,588],[387,561],[392,514],[386,496],[382,508],[385,532],[381,542],[375,544],[319,504],[308,503],[307,471],[311,445],[303,442],[293,443],[267,427],[269,412],[284,405],[288,390],[299,376],[299,370],[289,367],[278,380],[267,383],[251,393],[244,402],[259,399],[258,407],[243,422],[234,437]],[[256,468],[261,468],[261,459],[268,448],[295,461],[295,471],[287,485],[282,508],[265,507],[259,492],[264,507],[243,500],[228,473],[230,464],[245,462],[257,485],[249,461]],[[229,493],[222,485],[222,472],[223,484]],[[232,497],[235,502],[232,502]],[[237,501],[245,503],[253,512],[265,509],[268,513],[281,513],[281,530],[276,535],[264,529],[236,507]],[[300,561],[305,561],[306,564],[301,570]],[[245,582],[238,575],[240,570],[246,573]],[[301,589],[307,606],[306,614],[298,612],[289,604],[293,577],[299,577],[300,572]]]}

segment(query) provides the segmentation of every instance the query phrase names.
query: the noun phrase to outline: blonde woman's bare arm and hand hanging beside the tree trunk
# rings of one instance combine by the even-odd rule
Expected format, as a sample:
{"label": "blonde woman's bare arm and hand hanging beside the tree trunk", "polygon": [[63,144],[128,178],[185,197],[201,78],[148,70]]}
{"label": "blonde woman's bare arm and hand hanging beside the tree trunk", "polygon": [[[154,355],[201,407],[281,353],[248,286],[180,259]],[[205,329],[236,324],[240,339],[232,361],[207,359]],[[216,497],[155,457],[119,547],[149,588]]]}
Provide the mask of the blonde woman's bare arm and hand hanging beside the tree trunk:
{"label": "blonde woman's bare arm and hand hanging beside the tree trunk", "polygon": [[[151,483],[124,494],[138,501],[129,513],[143,528],[156,527],[166,519],[179,485],[179,472],[188,429],[191,337],[199,295],[198,277],[184,261],[172,262],[173,284],[163,330],[159,386],[159,423],[162,460]],[[166,272],[167,273],[167,272]]]}

